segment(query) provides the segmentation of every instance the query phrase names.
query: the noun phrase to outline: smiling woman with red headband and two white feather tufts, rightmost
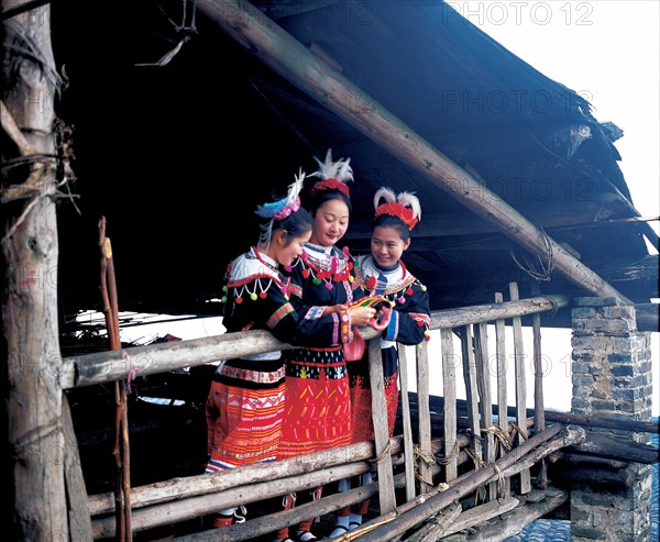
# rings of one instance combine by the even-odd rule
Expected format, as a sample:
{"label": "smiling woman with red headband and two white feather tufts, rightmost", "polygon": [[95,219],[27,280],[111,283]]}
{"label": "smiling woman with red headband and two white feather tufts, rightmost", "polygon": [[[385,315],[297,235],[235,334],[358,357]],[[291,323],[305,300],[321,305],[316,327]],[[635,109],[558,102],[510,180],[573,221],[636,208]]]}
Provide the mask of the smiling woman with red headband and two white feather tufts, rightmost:
{"label": "smiling woman with red headband and two white feather tufts, rightmost", "polygon": [[[394,432],[398,407],[398,353],[396,343],[415,345],[429,339],[429,296],[426,286],[415,278],[402,262],[403,253],[410,246],[410,231],[421,218],[419,200],[411,193],[397,196],[389,188],[381,188],[374,196],[376,210],[371,239],[371,254],[360,256],[355,266],[355,280],[371,296],[385,296],[393,302],[389,323],[383,330],[381,354],[385,379],[385,400],[389,436]],[[369,352],[362,360],[348,364],[351,386],[352,442],[374,439],[372,423],[372,396],[369,378]],[[367,485],[372,476],[366,473],[354,480]],[[340,491],[349,489],[350,480],[340,482]],[[369,500],[339,510],[337,524],[330,538],[337,538],[362,524]]]}

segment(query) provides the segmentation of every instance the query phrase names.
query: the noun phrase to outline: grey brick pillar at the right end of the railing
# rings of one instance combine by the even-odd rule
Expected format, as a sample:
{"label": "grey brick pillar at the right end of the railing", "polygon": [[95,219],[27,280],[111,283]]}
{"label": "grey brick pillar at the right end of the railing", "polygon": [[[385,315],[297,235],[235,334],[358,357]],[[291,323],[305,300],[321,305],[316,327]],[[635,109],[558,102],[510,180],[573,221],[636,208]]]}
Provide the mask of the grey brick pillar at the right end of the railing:
{"label": "grey brick pillar at the right end of the railing", "polygon": [[[572,312],[571,411],[649,421],[652,381],[650,332],[638,332],[635,307],[616,298],[578,298]],[[648,433],[622,431],[638,442]],[[650,542],[651,467],[629,463],[629,487],[575,484],[571,490],[573,542]]]}

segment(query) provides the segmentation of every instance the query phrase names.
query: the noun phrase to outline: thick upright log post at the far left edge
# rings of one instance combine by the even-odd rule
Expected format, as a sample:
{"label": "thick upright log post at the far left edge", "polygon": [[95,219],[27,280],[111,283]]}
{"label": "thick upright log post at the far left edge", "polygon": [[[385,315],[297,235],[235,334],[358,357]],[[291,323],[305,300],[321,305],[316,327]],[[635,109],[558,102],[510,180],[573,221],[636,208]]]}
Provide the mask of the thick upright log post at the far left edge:
{"label": "thick upright log post at the far left edge", "polygon": [[[32,5],[30,5],[32,4]],[[11,477],[6,487],[4,537],[14,541],[69,540],[62,427],[62,355],[57,328],[57,223],[55,213],[54,102],[59,78],[51,45],[50,5],[2,0],[3,158],[24,168],[3,169],[2,334],[3,403]],[[8,46],[11,44],[11,46]],[[6,177],[7,175],[7,177]],[[11,175],[11,177],[10,177]],[[79,533],[80,534],[80,533]],[[89,539],[89,533],[85,533]]]}

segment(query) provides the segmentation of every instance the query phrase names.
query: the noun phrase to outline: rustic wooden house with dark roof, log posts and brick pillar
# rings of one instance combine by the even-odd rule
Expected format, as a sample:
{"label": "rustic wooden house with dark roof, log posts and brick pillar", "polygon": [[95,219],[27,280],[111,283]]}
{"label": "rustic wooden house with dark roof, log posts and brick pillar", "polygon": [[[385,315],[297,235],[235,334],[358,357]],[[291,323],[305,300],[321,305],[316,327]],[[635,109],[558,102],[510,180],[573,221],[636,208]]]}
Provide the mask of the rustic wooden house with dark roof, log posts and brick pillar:
{"label": "rustic wooden house with dark roof, log posts and brick pillar", "polygon": [[[605,532],[650,540],[648,465],[657,449],[648,435],[658,428],[650,423],[649,334],[658,332],[651,300],[659,240],[618,167],[620,130],[598,122],[583,97],[442,1],[1,3],[3,464],[11,502],[3,518],[14,540],[130,540],[233,502],[237,486],[277,495],[311,483],[312,474],[337,480],[365,468],[378,474],[370,488],[378,510],[345,540],[503,540],[564,504],[574,540]],[[377,434],[351,450],[352,462],[312,457],[212,483],[188,465],[161,485],[141,479],[135,465],[146,468],[148,457],[141,457],[140,436],[128,445],[123,381],[138,373],[166,375],[170,384],[183,367],[266,351],[274,340],[251,332],[122,347],[108,310],[113,296],[99,292],[99,220],[112,239],[113,252],[101,239],[101,262],[117,274],[108,289],[122,310],[217,314],[227,262],[255,241],[255,202],[299,167],[311,170],[327,148],[351,157],[355,172],[352,251],[367,247],[380,186],[422,201],[406,263],[431,292],[443,358],[460,338],[472,395],[455,399],[447,367],[444,396],[428,398],[421,349],[418,394],[403,394],[414,401],[403,401],[399,436]],[[111,352],[64,347],[79,332],[77,314],[90,309],[109,316]],[[513,407],[502,387],[491,392],[483,377],[488,323],[516,334],[532,327],[539,349],[541,325],[573,330],[570,414],[544,411],[541,378],[531,412],[524,389],[509,390]],[[471,373],[473,366],[481,369]],[[78,441],[94,439],[85,423],[98,420],[81,413],[98,403],[80,390],[106,386],[112,394],[112,385],[124,439],[102,461],[123,458],[121,473],[130,457],[138,472],[128,465],[122,479],[132,485],[88,495],[96,480]],[[501,455],[487,430],[506,429],[505,411],[532,436],[512,438],[515,447]],[[183,425],[194,419],[185,412]],[[153,416],[143,425],[151,422]],[[387,461],[370,462],[386,450]],[[416,451],[442,461],[416,461]],[[563,489],[549,489],[550,460],[561,465],[551,477],[570,473]],[[195,461],[191,452],[182,464]],[[521,498],[532,479],[540,505]],[[598,500],[600,490],[606,498]],[[317,512],[339,506],[330,496]],[[295,513],[257,519],[250,533],[265,535]],[[499,522],[484,527],[494,518]],[[233,528],[178,534],[246,540]]]}

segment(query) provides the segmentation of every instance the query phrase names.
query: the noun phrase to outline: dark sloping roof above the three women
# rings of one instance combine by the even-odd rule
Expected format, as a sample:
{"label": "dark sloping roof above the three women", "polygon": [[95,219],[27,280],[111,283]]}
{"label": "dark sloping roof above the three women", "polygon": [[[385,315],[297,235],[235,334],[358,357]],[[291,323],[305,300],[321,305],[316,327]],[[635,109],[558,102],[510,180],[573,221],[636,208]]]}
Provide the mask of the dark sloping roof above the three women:
{"label": "dark sloping roof above the three women", "polygon": [[[539,224],[636,302],[658,296],[651,232],[630,201],[613,140],[581,96],[549,79],[440,1],[254,2],[359,86],[346,108],[376,100],[448,158]],[[84,21],[81,23],[80,21]],[[99,305],[97,223],[107,218],[120,308],[215,312],[228,261],[253,244],[253,210],[312,156],[350,157],[345,237],[369,247],[373,195],[414,191],[422,220],[405,261],[432,309],[490,302],[516,280],[521,296],[591,295],[493,223],[429,182],[323,103],[182,2],[54,2],[53,47],[68,87],[76,204],[59,207],[64,314]],[[187,13],[187,23],[190,12]],[[184,36],[178,53],[156,63]],[[79,212],[78,212],[79,210]],[[652,237],[652,234],[651,234]],[[654,240],[657,242],[657,237]],[[532,273],[534,274],[534,273]]]}

